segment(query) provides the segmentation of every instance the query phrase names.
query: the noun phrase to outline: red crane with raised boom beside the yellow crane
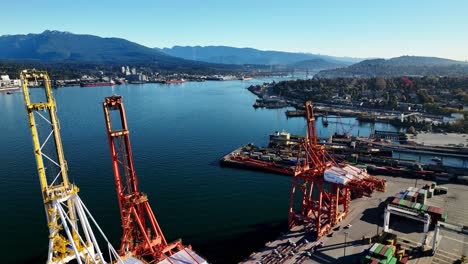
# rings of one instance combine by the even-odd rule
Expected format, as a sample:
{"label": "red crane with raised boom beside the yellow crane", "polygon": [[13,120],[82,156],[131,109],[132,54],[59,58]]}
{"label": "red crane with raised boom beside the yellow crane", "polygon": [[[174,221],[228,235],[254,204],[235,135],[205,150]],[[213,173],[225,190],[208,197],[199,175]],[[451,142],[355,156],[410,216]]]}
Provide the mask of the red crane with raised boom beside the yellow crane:
{"label": "red crane with raised boom beside the yellow crane", "polygon": [[[140,192],[122,97],[106,97],[103,108],[123,229],[119,254],[132,254],[147,263],[206,263],[180,239],[167,243],[147,195]],[[120,124],[111,122],[111,111],[118,112]]]}

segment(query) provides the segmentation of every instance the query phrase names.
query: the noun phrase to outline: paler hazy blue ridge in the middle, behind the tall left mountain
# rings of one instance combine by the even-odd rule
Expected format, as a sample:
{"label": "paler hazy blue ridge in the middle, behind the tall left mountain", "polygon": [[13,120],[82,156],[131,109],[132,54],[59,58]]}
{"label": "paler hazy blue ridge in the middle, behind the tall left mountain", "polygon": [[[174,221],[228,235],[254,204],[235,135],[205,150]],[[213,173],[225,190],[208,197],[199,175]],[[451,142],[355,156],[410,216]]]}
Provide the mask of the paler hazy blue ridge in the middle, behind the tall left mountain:
{"label": "paler hazy blue ridge in the middle, behind the tall left mountain", "polygon": [[[346,66],[361,61],[361,59],[356,58],[284,51],[263,51],[253,48],[228,46],[174,46],[172,48],[156,49],[168,55],[184,59],[225,64],[293,65],[301,61],[321,59],[333,66]],[[323,64],[323,62],[321,63]]]}

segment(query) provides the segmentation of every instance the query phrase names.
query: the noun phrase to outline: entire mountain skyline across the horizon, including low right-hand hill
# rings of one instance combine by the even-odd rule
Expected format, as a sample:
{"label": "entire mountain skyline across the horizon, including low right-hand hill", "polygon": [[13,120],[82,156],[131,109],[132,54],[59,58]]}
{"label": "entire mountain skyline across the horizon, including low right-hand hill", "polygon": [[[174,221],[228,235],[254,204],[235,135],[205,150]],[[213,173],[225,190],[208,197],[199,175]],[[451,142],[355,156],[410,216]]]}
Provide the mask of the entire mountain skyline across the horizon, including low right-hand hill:
{"label": "entire mountain skyline across the horizon, including low right-hand hill", "polygon": [[[316,76],[374,77],[468,75],[468,63],[434,57],[402,56],[362,60],[310,53],[262,51],[227,46],[149,48],[121,38],[46,30],[39,34],[0,36],[0,63],[135,65],[177,72],[276,70],[320,71]],[[94,65],[94,66],[93,66]],[[276,67],[280,66],[280,67]]]}

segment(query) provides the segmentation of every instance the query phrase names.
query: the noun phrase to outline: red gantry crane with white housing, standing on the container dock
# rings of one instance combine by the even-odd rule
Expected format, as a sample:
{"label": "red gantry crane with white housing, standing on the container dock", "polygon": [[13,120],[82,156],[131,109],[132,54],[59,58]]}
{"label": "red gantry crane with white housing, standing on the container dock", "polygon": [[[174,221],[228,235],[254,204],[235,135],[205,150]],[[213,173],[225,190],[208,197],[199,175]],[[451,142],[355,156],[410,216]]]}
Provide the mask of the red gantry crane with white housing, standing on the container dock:
{"label": "red gantry crane with white housing, standing on the container dock", "polygon": [[311,225],[320,238],[346,216],[351,191],[357,197],[370,196],[374,190],[385,191],[386,184],[363,169],[337,164],[317,142],[312,102],[305,103],[305,111],[307,136],[298,152],[288,223],[289,228]]}

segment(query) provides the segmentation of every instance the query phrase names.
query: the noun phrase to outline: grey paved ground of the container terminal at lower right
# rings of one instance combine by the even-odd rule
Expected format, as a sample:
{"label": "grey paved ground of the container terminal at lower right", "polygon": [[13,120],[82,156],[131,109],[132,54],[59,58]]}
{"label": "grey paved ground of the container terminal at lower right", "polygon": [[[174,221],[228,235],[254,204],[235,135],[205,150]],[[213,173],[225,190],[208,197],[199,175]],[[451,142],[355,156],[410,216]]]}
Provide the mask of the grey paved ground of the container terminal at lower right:
{"label": "grey paved ground of the container terminal at lower right", "polygon": [[[368,249],[369,238],[383,231],[383,210],[388,197],[410,186],[422,187],[429,181],[381,176],[387,180],[387,192],[375,192],[372,197],[363,197],[351,202],[348,216],[319,241],[314,241],[304,227],[296,227],[283,233],[278,239],[268,242],[259,252],[252,253],[241,263],[360,263],[362,252]],[[447,222],[468,226],[468,186],[438,183],[448,188],[447,194],[428,199],[428,205],[439,206],[448,213]],[[351,227],[346,228],[350,224]],[[397,235],[397,243],[409,254],[410,264],[454,263],[462,255],[468,256],[468,235],[452,231],[441,231],[439,246],[432,251],[433,230],[428,243],[421,249],[423,224],[415,220],[391,216],[390,233]],[[363,239],[364,238],[364,239]],[[308,242],[308,243],[307,243]],[[323,246],[314,253],[311,248],[322,242]],[[281,258],[278,258],[278,253]]]}

